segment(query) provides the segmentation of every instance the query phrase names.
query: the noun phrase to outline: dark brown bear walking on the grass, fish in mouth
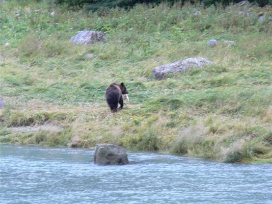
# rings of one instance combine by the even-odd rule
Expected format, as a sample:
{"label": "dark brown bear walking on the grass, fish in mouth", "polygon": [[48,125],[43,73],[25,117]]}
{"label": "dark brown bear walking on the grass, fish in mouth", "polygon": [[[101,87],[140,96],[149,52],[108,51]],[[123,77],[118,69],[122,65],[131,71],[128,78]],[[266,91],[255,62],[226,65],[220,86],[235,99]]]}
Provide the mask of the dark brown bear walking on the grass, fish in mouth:
{"label": "dark brown bear walking on the grass, fish in mouth", "polygon": [[124,106],[123,96],[122,94],[126,94],[128,99],[128,92],[124,83],[113,83],[106,88],[106,101],[108,106],[111,108],[112,112],[116,112],[118,108],[118,103],[120,104],[120,108],[122,109]]}

